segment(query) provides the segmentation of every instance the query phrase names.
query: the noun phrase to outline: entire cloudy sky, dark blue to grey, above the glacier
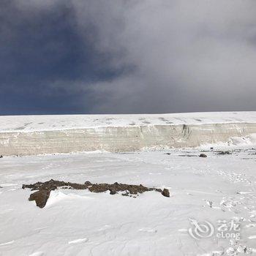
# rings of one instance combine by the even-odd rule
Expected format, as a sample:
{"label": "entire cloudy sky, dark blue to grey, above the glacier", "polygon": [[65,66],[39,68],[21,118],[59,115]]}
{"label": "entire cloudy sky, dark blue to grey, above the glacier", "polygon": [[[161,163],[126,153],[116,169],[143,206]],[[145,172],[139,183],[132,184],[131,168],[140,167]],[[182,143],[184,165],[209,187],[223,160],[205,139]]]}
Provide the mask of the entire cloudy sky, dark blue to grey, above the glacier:
{"label": "entire cloudy sky, dark blue to grey, above the glacier", "polygon": [[0,115],[256,110],[255,0],[1,0]]}

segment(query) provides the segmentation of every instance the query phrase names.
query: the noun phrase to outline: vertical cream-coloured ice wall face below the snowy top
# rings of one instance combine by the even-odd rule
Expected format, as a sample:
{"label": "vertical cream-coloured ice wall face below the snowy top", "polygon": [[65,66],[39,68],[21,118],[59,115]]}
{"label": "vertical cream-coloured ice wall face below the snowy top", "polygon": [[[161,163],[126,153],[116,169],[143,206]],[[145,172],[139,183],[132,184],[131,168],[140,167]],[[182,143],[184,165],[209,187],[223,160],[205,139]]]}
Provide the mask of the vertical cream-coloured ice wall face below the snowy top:
{"label": "vertical cream-coloured ice wall face below the snowy top", "polygon": [[29,132],[0,132],[1,155],[32,155],[78,151],[139,151],[225,143],[256,133],[256,123],[168,124],[95,127]]}

